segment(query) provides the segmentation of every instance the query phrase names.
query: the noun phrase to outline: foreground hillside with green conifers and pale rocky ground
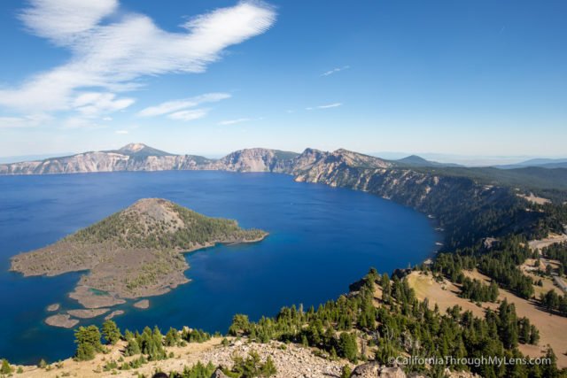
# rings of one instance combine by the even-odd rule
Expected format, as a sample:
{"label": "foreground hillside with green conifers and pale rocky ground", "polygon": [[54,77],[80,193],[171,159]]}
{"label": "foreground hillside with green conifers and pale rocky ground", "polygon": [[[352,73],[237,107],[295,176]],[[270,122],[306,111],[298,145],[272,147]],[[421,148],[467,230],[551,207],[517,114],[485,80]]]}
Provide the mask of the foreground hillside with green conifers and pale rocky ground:
{"label": "foreground hillside with green conifers and pale rocky ground", "polygon": [[[165,336],[157,327],[126,330],[123,335],[114,328],[113,339],[105,336],[108,345],[103,345],[97,326],[79,328],[75,359],[9,368],[28,377],[151,376],[156,371],[179,378],[564,376],[555,360],[537,365],[463,363],[478,356],[524,359],[524,350],[534,357],[551,356],[553,351],[540,342],[538,328],[509,302],[494,304],[491,312],[473,314],[458,305],[441,311],[412,289],[416,274],[390,279],[370,269],[348,294],[317,309],[283,307],[275,317],[257,322],[237,314],[225,337],[187,327],[170,328]],[[434,282],[431,271],[422,274]],[[510,332],[523,335],[520,329],[528,336]],[[410,356],[438,362],[404,363]],[[347,373],[351,369],[353,373]]]}

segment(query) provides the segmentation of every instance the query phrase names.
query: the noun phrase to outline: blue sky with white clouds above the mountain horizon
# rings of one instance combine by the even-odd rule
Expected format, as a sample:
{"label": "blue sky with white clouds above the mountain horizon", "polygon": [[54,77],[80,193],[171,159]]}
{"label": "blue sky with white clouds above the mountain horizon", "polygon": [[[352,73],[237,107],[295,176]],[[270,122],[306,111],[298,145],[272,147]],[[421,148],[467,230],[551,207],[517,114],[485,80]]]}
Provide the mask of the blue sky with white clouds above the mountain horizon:
{"label": "blue sky with white clouds above the mountain horizon", "polygon": [[566,156],[563,1],[8,0],[0,156]]}

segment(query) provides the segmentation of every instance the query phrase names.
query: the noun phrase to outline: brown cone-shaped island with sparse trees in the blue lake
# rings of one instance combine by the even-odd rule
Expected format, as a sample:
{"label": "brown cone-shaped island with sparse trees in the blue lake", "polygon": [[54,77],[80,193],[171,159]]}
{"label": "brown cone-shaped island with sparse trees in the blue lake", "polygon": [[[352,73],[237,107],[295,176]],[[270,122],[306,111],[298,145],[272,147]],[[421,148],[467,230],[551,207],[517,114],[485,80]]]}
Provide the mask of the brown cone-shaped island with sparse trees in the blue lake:
{"label": "brown cone-shaped island with sparse trees in the blue lake", "polygon": [[[70,297],[105,313],[125,299],[158,296],[188,282],[184,252],[216,243],[258,242],[267,235],[240,228],[235,220],[209,218],[165,199],[144,198],[57,243],[14,256],[11,270],[24,276],[89,271]],[[68,312],[66,322],[69,314],[93,315],[92,310],[83,312]]]}

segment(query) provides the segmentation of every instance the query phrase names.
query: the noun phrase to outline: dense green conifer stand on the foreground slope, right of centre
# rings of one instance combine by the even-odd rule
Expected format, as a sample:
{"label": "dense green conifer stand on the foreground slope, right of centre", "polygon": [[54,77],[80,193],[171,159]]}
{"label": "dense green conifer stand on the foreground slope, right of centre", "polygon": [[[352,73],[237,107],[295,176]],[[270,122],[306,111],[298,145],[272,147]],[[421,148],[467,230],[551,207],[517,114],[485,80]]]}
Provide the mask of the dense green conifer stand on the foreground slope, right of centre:
{"label": "dense green conifer stand on the foreground slope, right of centre", "polygon": [[[382,289],[382,305],[373,305],[377,286]],[[488,311],[485,319],[475,318],[454,306],[442,314],[430,310],[426,302],[416,299],[406,280],[378,275],[371,270],[357,293],[329,301],[315,311],[295,306],[283,307],[276,318],[251,322],[245,315],[236,315],[229,333],[249,336],[265,343],[268,340],[307,344],[326,351],[328,356],[355,361],[376,359],[388,363],[389,358],[408,353],[416,357],[451,355],[455,359],[494,356],[518,357],[519,343],[537,343],[537,329],[526,318],[518,319],[513,304],[502,302],[497,312]],[[362,353],[358,343],[366,350]],[[436,366],[435,368],[443,368]],[[470,369],[484,377],[527,376],[539,374],[542,366],[451,366]],[[423,370],[423,366],[411,366]],[[534,375],[537,376],[537,375]]]}

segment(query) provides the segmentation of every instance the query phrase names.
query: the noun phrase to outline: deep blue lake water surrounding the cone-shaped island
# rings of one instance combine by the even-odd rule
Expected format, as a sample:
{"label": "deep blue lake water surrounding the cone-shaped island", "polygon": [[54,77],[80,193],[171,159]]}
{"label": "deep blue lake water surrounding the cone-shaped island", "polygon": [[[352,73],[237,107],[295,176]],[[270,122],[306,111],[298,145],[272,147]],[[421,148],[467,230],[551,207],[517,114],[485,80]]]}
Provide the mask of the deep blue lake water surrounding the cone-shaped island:
{"label": "deep blue lake water surrounding the cone-shaped island", "polygon": [[[379,272],[418,264],[435,250],[427,218],[380,197],[294,182],[283,174],[155,172],[0,176],[0,358],[13,363],[66,359],[72,329],[43,323],[46,306],[79,308],[67,293],[80,273],[23,278],[9,258],[102,220],[144,197],[163,197],[208,216],[238,220],[270,235],[260,243],[217,246],[186,255],[192,281],[147,310],[131,302],[119,327],[158,325],[226,332],[235,313],[252,320],[283,305],[315,307]],[[102,320],[82,320],[80,325]]]}

